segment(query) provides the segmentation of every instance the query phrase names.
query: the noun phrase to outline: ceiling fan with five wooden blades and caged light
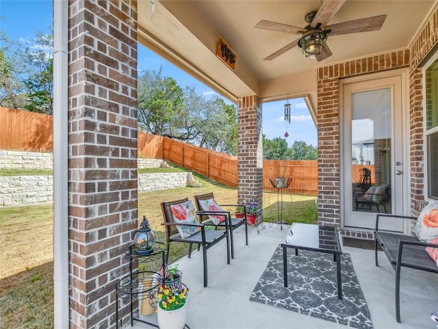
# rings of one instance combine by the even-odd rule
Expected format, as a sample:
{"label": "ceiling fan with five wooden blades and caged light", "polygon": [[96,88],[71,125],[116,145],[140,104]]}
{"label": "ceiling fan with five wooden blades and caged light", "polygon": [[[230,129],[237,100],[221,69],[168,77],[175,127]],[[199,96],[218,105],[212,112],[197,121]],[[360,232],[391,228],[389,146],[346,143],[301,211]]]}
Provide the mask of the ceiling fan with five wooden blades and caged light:
{"label": "ceiling fan with five wooden blades and caged light", "polygon": [[350,34],[357,32],[377,31],[381,29],[385,22],[386,15],[367,17],[365,19],[356,19],[333,25],[327,25],[335,16],[337,11],[344,5],[346,0],[324,0],[318,11],[309,12],[305,15],[305,21],[309,24],[306,27],[296,27],[271,21],[260,21],[255,25],[258,29],[268,29],[270,31],[285,32],[290,34],[301,34],[301,37],[285,45],[285,47],[263,58],[263,60],[273,60],[286,51],[298,46],[306,57],[315,56],[320,62],[330,56],[332,52],[326,44],[327,37],[339,36],[341,34]]}

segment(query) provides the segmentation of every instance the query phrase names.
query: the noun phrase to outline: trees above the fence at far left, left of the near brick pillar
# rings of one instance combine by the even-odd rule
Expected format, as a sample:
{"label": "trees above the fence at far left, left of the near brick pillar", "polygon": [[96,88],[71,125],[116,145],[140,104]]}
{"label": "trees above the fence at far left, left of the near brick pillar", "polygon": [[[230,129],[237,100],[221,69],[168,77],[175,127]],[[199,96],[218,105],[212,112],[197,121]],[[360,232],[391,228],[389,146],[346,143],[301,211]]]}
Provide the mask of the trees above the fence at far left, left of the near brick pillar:
{"label": "trees above the fence at far left, left of the near brick pillar", "polygon": [[0,105],[32,112],[53,112],[53,30],[27,42],[1,32]]}

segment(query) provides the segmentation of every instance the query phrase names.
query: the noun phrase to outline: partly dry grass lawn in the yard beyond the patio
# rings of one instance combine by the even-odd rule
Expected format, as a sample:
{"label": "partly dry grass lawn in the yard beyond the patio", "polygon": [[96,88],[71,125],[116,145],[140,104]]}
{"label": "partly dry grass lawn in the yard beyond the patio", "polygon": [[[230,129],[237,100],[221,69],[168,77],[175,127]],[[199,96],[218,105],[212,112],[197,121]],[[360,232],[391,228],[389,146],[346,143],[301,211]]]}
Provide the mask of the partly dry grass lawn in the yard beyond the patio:
{"label": "partly dry grass lawn in the yard beyond the patio", "polygon": [[[169,170],[169,169],[166,169]],[[173,169],[177,170],[177,169]],[[237,189],[206,180],[194,174],[198,188],[174,188],[138,195],[139,222],[145,215],[157,241],[165,241],[160,202],[213,192],[220,204],[234,204]],[[283,195],[283,221],[315,223],[315,197]],[[263,193],[264,221],[277,216],[276,193]],[[14,206],[0,208],[0,329],[53,328],[53,206]],[[185,256],[188,243],[173,243],[170,262]]]}

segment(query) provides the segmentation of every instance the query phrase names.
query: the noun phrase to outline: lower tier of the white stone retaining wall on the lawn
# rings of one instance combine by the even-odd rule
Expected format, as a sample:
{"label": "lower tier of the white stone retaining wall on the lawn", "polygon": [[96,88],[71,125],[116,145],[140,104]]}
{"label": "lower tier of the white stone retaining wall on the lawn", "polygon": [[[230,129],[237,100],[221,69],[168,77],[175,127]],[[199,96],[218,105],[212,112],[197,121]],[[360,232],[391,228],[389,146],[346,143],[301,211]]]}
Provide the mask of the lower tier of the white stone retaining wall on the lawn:
{"label": "lower tier of the white stone retaining wall on the lawn", "polygon": [[[139,192],[196,186],[196,183],[192,173],[138,174]],[[0,176],[0,206],[49,201],[53,201],[52,176]]]}

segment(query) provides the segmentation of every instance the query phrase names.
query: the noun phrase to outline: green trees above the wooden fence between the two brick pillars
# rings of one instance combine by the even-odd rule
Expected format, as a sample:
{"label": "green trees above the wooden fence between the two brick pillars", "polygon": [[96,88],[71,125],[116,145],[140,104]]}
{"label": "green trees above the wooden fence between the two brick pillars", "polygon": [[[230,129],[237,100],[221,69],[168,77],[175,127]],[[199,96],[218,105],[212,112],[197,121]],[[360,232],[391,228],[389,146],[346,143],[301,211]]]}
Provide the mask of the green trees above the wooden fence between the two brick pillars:
{"label": "green trees above the wooden fence between the two brick pillars", "polygon": [[194,86],[182,89],[172,77],[145,71],[138,81],[140,130],[207,149],[235,154],[237,112],[220,97],[205,99]]}

